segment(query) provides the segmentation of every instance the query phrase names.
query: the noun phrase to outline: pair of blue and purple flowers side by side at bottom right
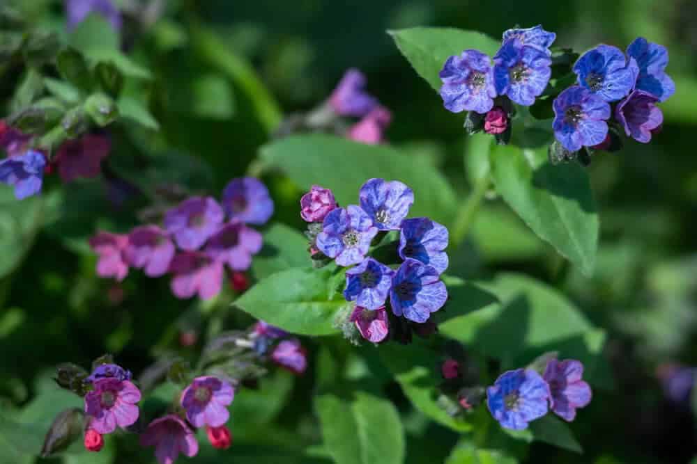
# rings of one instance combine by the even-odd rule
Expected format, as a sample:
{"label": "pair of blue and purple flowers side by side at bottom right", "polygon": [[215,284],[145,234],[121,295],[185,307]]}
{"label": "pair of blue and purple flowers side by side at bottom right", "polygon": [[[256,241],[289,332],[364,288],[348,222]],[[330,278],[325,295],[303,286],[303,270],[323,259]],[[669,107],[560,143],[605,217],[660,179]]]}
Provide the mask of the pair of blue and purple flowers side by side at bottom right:
{"label": "pair of blue and purple flowers side by side at bottom right", "polygon": [[487,406],[506,429],[526,429],[549,409],[571,422],[592,396],[582,376],[583,365],[576,360],[550,359],[542,375],[530,368],[507,371],[487,388]]}

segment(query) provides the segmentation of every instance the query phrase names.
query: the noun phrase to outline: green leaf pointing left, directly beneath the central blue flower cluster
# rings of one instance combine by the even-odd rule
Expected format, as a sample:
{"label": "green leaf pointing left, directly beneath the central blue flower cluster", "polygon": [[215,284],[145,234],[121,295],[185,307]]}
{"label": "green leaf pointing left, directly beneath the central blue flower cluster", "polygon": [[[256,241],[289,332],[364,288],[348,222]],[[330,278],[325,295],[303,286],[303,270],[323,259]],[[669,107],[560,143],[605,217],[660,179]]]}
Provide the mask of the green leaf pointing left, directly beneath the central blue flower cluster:
{"label": "green leaf pointing left, directly beneath the central blue flower cluster", "polygon": [[332,276],[332,269],[286,269],[261,280],[234,305],[292,333],[338,333],[335,321],[351,307],[337,292],[337,280],[343,277]]}

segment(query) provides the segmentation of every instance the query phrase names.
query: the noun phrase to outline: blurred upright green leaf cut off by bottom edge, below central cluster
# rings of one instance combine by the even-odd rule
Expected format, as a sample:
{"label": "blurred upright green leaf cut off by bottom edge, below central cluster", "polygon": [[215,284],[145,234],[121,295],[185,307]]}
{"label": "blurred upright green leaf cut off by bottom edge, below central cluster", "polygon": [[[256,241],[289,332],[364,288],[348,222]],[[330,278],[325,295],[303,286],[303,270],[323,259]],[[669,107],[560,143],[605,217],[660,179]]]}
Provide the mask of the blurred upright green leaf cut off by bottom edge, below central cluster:
{"label": "blurred upright green leaf cut off by bottom edge, below central cluster", "polygon": [[357,392],[352,401],[324,394],[314,405],[335,463],[404,463],[404,428],[389,401]]}

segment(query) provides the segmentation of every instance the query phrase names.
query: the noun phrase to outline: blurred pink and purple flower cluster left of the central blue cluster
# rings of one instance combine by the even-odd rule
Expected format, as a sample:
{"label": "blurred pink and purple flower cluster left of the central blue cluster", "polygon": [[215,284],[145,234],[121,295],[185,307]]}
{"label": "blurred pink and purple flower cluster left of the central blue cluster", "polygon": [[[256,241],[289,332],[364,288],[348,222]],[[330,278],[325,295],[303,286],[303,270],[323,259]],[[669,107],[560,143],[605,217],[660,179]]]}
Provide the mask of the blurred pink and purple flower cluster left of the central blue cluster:
{"label": "blurred pink and purple flower cluster left of the central blue cluster", "polygon": [[[250,225],[263,225],[273,214],[266,186],[259,179],[233,179],[214,198],[187,198],[164,214],[164,227],[141,225],[129,234],[100,232],[90,239],[99,255],[97,273],[123,280],[128,269],[143,269],[148,277],[171,273],[178,298],[196,294],[213,298],[222,288],[224,268],[233,273],[233,287],[244,289],[252,255],[261,250],[261,234]],[[244,285],[242,285],[244,284]]]}

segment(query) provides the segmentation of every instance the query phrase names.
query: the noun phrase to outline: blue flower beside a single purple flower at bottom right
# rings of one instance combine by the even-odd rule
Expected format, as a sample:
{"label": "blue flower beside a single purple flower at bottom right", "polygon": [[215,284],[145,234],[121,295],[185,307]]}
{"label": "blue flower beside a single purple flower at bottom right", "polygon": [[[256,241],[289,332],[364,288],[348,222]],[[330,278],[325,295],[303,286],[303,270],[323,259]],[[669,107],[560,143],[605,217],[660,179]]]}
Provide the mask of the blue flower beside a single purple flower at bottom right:
{"label": "blue flower beside a single purple flower at bottom right", "polygon": [[487,406],[506,429],[522,430],[549,408],[549,385],[533,369],[504,372],[487,388]]}

